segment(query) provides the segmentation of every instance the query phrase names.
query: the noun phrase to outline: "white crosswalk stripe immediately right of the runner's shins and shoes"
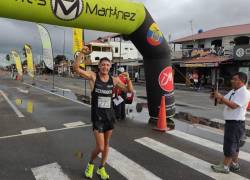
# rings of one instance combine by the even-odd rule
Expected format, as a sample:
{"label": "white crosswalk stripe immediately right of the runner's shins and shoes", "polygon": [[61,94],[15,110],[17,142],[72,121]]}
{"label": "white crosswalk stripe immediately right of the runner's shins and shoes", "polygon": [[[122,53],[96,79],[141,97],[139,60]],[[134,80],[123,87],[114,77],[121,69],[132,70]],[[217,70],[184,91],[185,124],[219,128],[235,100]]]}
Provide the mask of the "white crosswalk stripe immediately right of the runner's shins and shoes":
{"label": "white crosswalk stripe immediately right of the runner's shins and shoes", "polygon": [[[99,156],[100,157],[100,156]],[[150,171],[146,170],[144,167],[130,160],[126,156],[122,155],[115,149],[109,149],[109,158],[107,160],[108,165],[117,170],[127,179],[136,180],[136,179],[145,179],[145,180],[160,180],[161,178],[157,177]]]}

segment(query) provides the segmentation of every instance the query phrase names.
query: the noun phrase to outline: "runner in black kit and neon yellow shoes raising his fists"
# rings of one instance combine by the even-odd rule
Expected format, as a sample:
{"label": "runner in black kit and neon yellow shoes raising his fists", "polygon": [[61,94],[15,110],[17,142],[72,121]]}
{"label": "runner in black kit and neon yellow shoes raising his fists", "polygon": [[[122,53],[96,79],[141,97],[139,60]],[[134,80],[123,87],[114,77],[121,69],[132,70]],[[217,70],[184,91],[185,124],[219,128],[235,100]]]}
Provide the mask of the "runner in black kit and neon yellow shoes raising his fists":
{"label": "runner in black kit and neon yellow shoes raising his fists", "polygon": [[91,88],[91,121],[93,125],[93,133],[95,136],[96,147],[91,153],[90,161],[85,170],[85,177],[92,179],[94,171],[94,160],[99,153],[101,163],[97,169],[97,174],[101,179],[109,179],[109,175],[105,170],[105,163],[108,158],[109,140],[114,129],[115,115],[112,107],[112,91],[113,88],[119,88],[124,92],[132,92],[133,85],[128,73],[124,73],[127,85],[124,85],[118,77],[110,75],[111,61],[104,57],[100,59],[98,64],[98,72],[85,71],[81,69],[80,62],[84,59],[85,54],[90,53],[88,47],[83,47],[79,55],[76,57],[73,65],[74,70],[81,77],[89,80]]}

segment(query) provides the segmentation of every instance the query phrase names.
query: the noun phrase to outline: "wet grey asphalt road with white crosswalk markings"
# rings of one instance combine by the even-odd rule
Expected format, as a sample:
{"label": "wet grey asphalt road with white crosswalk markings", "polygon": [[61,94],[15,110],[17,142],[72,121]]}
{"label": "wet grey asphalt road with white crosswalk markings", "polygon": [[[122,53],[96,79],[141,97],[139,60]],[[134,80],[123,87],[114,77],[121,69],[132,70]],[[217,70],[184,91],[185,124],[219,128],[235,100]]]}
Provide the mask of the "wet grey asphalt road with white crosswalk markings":
{"label": "wet grey asphalt road with white crosswalk markings", "polygon": [[[71,86],[67,81],[63,88]],[[58,89],[53,94],[50,88],[46,82],[32,86],[28,80],[0,77],[1,180],[84,179],[95,145],[90,107],[66,95],[69,92],[63,95]],[[107,162],[111,179],[250,178],[249,148],[242,153],[239,174],[216,174],[210,165],[222,159],[221,132],[176,120],[177,130],[159,133],[145,117],[116,123]]]}

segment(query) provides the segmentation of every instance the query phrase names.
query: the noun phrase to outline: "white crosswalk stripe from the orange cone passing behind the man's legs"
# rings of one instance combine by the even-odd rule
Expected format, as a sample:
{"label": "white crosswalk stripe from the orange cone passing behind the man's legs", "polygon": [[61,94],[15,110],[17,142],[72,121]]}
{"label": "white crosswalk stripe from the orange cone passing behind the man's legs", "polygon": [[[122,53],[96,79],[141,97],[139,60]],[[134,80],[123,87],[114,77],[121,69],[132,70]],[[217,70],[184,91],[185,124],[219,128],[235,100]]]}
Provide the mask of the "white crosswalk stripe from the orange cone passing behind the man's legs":
{"label": "white crosswalk stripe from the orange cone passing behind the man's legs", "polygon": [[[199,144],[201,146],[207,147],[207,148],[215,150],[215,151],[219,151],[219,152],[223,151],[223,146],[221,144],[215,143],[215,142],[207,140],[207,139],[200,138],[198,136],[187,134],[187,133],[184,133],[184,132],[181,132],[178,130],[168,131],[167,134],[171,134],[171,135],[176,136],[178,138],[184,139],[186,141],[190,141],[190,142],[195,143],[195,144]],[[250,162],[250,153],[240,151],[239,158]]]}

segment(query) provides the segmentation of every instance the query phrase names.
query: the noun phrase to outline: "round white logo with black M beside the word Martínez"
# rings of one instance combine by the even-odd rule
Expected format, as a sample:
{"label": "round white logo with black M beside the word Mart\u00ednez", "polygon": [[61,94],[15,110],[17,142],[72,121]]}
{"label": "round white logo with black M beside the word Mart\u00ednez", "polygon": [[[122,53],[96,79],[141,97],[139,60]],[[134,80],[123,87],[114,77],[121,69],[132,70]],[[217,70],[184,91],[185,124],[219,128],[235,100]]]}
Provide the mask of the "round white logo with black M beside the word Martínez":
{"label": "round white logo with black M beside the word Mart\u00ednez", "polygon": [[73,20],[83,11],[82,0],[51,0],[54,15],[61,20]]}

